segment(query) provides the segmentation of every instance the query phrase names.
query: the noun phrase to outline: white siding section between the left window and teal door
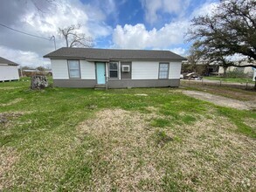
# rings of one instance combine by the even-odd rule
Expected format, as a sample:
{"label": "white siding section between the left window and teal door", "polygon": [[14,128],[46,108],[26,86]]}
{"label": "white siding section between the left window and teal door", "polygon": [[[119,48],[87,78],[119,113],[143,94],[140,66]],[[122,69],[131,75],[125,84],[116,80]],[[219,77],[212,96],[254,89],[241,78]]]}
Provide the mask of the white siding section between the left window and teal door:
{"label": "white siding section between the left window and teal door", "polygon": [[95,79],[95,64],[80,60],[81,79]]}

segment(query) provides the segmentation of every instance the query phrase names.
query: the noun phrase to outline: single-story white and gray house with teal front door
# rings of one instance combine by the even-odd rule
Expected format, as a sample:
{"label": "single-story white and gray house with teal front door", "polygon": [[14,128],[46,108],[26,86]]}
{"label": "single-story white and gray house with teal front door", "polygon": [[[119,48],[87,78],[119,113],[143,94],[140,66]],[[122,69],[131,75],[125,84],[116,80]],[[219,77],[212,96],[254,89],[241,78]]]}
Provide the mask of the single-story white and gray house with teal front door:
{"label": "single-story white and gray house with teal front door", "polygon": [[53,86],[179,86],[183,58],[171,51],[60,48],[51,58]]}

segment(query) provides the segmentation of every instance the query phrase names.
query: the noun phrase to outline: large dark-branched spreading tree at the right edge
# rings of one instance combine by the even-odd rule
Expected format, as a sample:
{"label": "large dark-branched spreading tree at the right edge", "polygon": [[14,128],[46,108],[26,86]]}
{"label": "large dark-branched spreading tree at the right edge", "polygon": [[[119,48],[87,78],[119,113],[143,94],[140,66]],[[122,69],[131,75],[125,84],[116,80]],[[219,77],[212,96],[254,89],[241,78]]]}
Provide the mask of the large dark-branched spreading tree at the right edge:
{"label": "large dark-branched spreading tree at the right edge", "polygon": [[256,67],[255,0],[221,1],[211,15],[194,17],[191,22],[188,40],[202,57],[222,61],[240,54],[252,63],[236,66]]}

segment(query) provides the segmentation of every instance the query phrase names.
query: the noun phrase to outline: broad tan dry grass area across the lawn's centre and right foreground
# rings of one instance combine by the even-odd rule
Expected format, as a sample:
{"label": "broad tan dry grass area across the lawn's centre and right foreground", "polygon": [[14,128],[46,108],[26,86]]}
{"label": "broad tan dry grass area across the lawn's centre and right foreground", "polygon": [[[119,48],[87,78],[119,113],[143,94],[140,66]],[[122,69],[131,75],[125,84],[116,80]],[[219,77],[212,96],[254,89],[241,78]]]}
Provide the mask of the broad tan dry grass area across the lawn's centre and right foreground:
{"label": "broad tan dry grass area across the lawn's centre and right foreground", "polygon": [[[154,107],[155,109],[155,107]],[[103,110],[78,127],[99,145],[90,191],[253,191],[253,139],[212,114],[193,125],[151,127],[156,113]],[[166,117],[168,119],[168,117]],[[160,144],[161,145],[160,145]]]}

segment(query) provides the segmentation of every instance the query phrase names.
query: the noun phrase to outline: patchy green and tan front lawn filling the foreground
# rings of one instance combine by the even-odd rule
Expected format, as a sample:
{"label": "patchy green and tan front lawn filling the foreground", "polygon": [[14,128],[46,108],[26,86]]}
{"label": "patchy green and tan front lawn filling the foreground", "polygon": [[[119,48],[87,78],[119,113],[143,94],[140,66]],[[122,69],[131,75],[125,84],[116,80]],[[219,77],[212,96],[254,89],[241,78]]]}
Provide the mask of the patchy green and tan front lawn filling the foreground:
{"label": "patchy green and tan front lawn filling the foreground", "polygon": [[0,190],[255,191],[254,111],[29,84],[0,83]]}

